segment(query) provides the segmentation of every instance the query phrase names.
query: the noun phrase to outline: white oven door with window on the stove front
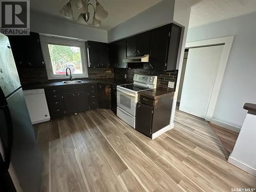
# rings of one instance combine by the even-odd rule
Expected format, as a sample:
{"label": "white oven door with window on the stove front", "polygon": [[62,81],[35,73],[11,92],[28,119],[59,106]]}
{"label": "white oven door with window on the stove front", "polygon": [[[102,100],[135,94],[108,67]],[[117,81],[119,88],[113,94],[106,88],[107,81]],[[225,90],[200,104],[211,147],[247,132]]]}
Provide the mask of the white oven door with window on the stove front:
{"label": "white oven door with window on the stove front", "polygon": [[117,90],[117,106],[127,113],[135,116],[136,95]]}

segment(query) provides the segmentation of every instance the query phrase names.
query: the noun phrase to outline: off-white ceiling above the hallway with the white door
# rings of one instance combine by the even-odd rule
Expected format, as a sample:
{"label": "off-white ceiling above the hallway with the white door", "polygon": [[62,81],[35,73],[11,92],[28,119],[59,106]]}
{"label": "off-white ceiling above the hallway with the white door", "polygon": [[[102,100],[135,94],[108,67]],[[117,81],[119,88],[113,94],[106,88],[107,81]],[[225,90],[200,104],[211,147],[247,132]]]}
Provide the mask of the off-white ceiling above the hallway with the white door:
{"label": "off-white ceiling above the hallway with the white door", "polygon": [[189,28],[255,11],[256,0],[202,0],[191,7]]}

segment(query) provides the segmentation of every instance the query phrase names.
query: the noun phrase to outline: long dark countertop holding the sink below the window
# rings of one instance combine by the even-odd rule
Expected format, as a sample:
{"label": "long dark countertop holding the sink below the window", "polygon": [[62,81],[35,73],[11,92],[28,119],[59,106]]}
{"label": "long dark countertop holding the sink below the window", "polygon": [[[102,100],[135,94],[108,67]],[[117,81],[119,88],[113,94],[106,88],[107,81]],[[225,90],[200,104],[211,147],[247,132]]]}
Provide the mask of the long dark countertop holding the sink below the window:
{"label": "long dark countertop holding the sink below the window", "polygon": [[[76,80],[76,79],[75,79]],[[23,90],[31,90],[31,89],[43,89],[48,87],[61,87],[61,86],[74,86],[74,85],[81,85],[83,83],[106,83],[106,84],[113,84],[118,86],[120,84],[128,84],[133,83],[132,81],[126,81],[121,79],[81,79],[82,83],[78,84],[63,84],[62,81],[53,81],[53,82],[46,82],[46,83],[31,83],[22,86]]]}

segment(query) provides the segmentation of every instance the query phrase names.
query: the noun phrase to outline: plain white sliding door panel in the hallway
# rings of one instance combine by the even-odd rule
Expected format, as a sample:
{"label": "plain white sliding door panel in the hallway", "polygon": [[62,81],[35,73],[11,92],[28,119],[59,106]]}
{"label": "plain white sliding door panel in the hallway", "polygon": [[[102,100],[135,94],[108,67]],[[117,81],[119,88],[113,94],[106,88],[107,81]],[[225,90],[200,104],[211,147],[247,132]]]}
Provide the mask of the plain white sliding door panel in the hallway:
{"label": "plain white sliding door panel in the hallway", "polygon": [[220,45],[189,49],[180,111],[205,119],[223,47]]}

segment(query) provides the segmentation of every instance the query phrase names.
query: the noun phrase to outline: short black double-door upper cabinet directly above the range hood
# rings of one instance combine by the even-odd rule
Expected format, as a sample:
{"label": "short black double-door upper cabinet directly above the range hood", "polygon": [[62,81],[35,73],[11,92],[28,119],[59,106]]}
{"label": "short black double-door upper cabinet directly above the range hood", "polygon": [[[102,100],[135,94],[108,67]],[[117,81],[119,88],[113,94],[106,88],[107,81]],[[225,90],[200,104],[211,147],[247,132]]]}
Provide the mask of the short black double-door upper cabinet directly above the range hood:
{"label": "short black double-door upper cabinet directly above the range hood", "polygon": [[126,39],[127,57],[150,54],[151,31]]}

